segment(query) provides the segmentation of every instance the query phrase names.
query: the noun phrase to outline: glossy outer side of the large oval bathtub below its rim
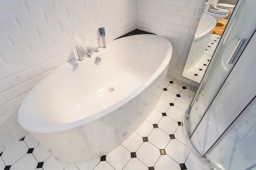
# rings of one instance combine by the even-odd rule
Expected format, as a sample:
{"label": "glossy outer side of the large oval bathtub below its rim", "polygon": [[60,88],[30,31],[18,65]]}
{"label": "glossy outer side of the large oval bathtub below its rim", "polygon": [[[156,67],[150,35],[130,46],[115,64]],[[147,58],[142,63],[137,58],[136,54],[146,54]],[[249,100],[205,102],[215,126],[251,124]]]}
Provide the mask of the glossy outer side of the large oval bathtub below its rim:
{"label": "glossy outer side of the large oval bathtub below its rim", "polygon": [[32,136],[62,164],[81,164],[107,154],[131,136],[154,110],[168,66],[144,91],[115,111],[71,130]]}

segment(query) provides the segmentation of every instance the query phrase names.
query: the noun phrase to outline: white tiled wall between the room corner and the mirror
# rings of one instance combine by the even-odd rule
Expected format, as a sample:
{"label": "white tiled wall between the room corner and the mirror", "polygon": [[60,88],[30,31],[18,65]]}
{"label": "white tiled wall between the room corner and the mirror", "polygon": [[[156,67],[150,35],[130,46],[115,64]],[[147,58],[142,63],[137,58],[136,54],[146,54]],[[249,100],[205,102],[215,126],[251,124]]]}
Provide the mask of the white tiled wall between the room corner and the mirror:
{"label": "white tiled wall between the room corner and the mirror", "polygon": [[137,29],[172,42],[169,75],[182,75],[204,3],[205,0],[137,0]]}

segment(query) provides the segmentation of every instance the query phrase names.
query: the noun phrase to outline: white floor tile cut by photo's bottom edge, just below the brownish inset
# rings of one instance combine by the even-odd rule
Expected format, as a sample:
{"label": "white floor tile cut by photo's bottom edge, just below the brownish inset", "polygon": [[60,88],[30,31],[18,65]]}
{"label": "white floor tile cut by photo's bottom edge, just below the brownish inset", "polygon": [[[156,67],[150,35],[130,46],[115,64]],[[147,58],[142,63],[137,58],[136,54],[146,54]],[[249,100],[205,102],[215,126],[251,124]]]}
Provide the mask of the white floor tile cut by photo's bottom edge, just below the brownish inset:
{"label": "white floor tile cut by photo's bottom edge, just below the brownish inset", "polygon": [[180,165],[167,155],[161,155],[158,159],[155,170],[180,170]]}

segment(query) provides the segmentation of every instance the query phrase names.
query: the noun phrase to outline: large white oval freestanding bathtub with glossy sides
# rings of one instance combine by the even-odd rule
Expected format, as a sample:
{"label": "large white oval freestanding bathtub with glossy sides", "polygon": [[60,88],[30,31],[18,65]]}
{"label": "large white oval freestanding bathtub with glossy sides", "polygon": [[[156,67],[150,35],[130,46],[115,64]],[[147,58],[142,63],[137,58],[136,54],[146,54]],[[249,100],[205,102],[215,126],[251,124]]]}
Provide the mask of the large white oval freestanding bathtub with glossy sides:
{"label": "large white oval freestanding bathtub with glossy sides", "polygon": [[20,106],[20,125],[63,164],[103,156],[153,111],[171,56],[172,44],[156,35],[114,40],[90,59],[65,63],[36,85]]}

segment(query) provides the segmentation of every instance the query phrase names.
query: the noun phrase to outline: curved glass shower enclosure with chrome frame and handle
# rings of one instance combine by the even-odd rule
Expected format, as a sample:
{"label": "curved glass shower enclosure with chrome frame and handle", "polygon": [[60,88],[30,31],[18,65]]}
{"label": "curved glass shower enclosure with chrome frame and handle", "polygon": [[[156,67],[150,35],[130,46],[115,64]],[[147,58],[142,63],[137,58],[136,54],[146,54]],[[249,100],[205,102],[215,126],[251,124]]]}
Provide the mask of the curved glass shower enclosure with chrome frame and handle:
{"label": "curved glass shower enclosure with chrome frame and handle", "polygon": [[237,2],[184,116],[183,136],[208,169],[256,170],[254,6]]}

